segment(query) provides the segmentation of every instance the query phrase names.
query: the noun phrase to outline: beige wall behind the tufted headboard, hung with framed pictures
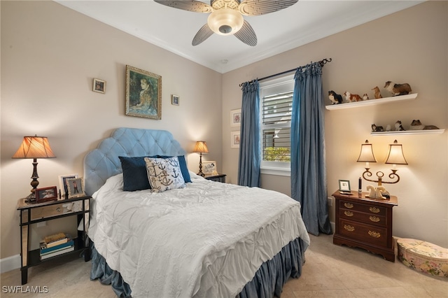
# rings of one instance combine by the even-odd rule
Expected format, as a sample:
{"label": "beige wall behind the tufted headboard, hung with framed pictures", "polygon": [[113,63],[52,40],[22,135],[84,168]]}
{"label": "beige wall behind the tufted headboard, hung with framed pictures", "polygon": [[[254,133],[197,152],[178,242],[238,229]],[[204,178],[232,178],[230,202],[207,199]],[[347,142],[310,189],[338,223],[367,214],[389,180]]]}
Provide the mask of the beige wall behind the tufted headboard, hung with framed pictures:
{"label": "beige wall behind the tufted headboard, hung with framed pictures", "polygon": [[[126,64],[162,76],[162,120],[125,115]],[[32,160],[11,157],[23,136],[48,136],[57,156],[38,159],[41,187],[82,175],[86,152],[117,127],[167,129],[187,152],[204,139],[204,159],[221,170],[221,77],[53,1],[1,1],[1,258],[20,253],[15,208]],[[92,92],[92,78],[107,81],[106,94]],[[199,155],[188,162],[197,171]]]}

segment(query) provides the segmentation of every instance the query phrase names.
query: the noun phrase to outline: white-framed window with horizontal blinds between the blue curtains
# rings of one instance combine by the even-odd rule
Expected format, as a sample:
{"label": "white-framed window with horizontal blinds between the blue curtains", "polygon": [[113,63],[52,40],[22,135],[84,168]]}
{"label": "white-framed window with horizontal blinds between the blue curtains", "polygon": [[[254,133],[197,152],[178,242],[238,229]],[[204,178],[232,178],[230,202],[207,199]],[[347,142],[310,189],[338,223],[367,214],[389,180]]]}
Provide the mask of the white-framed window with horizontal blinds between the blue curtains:
{"label": "white-framed window with horizontal blinds between the blue curtains", "polygon": [[290,175],[294,75],[260,82],[261,172]]}

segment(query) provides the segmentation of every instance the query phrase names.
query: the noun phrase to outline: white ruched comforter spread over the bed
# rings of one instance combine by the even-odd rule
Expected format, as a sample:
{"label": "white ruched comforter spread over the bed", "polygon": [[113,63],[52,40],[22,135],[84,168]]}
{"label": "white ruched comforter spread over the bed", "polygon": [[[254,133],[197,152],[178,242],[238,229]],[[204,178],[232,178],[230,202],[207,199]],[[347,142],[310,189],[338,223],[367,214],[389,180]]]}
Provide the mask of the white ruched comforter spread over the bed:
{"label": "white ruched comforter spread over the bed", "polygon": [[123,192],[123,174],[93,194],[89,236],[132,297],[235,297],[260,265],[300,236],[300,204],[190,173],[179,190]]}

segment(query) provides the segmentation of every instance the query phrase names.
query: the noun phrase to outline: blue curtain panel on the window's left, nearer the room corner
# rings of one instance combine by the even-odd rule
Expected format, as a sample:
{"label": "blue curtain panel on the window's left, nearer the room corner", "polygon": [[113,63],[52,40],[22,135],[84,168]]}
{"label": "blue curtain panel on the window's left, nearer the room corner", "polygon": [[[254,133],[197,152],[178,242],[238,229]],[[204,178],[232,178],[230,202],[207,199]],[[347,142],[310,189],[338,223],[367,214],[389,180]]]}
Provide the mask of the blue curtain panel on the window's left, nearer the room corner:
{"label": "blue curtain panel on the window's left, nearer the room corner", "polygon": [[260,95],[258,80],[243,83],[238,184],[260,187]]}

